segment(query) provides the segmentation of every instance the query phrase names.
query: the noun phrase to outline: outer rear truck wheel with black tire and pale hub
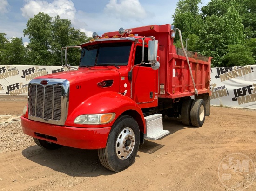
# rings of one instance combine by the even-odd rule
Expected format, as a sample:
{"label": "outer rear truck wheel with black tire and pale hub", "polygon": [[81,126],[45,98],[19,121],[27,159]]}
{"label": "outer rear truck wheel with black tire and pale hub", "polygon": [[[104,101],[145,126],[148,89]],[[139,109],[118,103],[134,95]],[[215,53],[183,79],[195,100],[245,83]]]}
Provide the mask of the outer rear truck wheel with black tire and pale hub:
{"label": "outer rear truck wheel with black tire and pale hub", "polygon": [[190,111],[191,123],[195,127],[201,127],[205,119],[205,103],[202,99],[195,99]]}

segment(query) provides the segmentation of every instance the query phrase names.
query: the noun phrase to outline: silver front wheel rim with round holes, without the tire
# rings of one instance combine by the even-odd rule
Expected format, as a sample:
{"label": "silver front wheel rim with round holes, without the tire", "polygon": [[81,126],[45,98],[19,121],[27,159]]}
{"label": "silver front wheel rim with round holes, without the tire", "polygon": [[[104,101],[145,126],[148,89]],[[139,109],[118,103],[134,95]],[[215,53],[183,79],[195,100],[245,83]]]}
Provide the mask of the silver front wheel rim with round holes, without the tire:
{"label": "silver front wheel rim with round holes, without the tire", "polygon": [[117,136],[115,151],[119,159],[127,159],[133,152],[135,135],[131,128],[124,128]]}

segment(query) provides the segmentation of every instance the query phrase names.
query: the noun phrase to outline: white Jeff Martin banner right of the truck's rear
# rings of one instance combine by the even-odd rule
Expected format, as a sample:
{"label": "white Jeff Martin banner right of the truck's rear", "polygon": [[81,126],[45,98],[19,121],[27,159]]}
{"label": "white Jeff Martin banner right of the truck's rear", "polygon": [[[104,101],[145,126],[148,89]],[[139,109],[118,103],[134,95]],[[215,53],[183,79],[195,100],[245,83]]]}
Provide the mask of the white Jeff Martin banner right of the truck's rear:
{"label": "white Jeff Martin banner right of the truck's rear", "polygon": [[256,65],[211,68],[211,105],[256,109]]}

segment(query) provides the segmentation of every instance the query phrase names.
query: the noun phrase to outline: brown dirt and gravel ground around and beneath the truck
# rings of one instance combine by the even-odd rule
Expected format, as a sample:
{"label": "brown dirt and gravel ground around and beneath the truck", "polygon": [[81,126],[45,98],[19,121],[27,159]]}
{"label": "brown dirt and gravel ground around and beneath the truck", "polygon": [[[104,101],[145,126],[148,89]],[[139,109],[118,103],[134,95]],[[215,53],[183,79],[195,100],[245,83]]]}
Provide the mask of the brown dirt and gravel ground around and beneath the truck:
{"label": "brown dirt and gravel ground around and beneath the truck", "polygon": [[[26,102],[0,96],[0,115],[21,114]],[[135,163],[115,173],[101,166],[96,150],[47,151],[22,133],[20,122],[0,124],[0,191],[256,190],[256,110],[211,107],[200,128],[166,118],[164,129],[170,134],[145,140]],[[229,174],[231,182],[222,179]]]}

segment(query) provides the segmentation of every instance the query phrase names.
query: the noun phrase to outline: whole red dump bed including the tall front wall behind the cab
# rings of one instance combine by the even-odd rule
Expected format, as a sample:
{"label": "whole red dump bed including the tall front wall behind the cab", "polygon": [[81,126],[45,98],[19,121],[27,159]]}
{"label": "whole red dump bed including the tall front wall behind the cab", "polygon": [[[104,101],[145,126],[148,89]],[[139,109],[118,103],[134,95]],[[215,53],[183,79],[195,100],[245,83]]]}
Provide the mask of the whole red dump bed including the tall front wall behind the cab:
{"label": "whole red dump bed including the tall front wall behind the cab", "polygon": [[[160,91],[158,97],[175,99],[193,96],[195,89],[186,57],[182,49],[173,45],[174,38],[171,38],[171,32],[171,25],[167,24],[157,25],[157,27],[154,25],[154,30],[151,30],[150,33],[159,43]],[[176,34],[176,36],[178,35]],[[198,94],[210,94],[211,57],[206,57],[196,52],[186,52]]]}

